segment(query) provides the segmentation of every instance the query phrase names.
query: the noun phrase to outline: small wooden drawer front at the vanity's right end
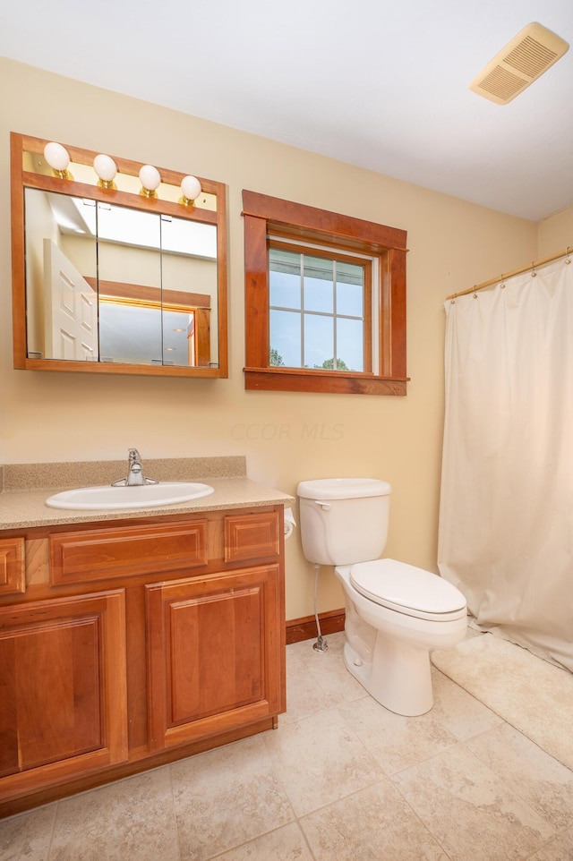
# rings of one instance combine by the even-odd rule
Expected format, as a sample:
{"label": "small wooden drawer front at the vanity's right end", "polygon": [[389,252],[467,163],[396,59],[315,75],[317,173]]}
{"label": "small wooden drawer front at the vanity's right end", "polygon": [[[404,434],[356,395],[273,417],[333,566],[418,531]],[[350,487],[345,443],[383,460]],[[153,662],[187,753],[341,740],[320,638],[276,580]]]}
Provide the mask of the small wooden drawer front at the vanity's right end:
{"label": "small wooden drawer front at the vanity's right end", "polygon": [[278,513],[227,516],[225,518],[225,561],[278,558],[280,541]]}

